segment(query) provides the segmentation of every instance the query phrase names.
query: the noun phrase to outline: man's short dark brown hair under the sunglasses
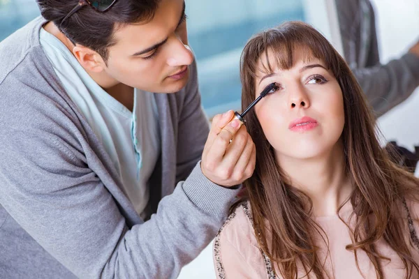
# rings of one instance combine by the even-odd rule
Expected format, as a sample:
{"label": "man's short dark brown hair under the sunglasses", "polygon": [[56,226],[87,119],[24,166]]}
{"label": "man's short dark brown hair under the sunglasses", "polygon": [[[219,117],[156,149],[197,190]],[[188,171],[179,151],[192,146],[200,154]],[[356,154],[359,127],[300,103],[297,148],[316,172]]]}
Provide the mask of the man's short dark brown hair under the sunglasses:
{"label": "man's short dark brown hair under the sunglasses", "polygon": [[41,15],[61,29],[73,43],[78,43],[98,52],[106,62],[108,47],[115,45],[115,28],[124,24],[152,20],[160,0],[119,0],[100,13],[84,6],[68,17],[60,27],[61,20],[77,5],[78,0],[36,0]]}

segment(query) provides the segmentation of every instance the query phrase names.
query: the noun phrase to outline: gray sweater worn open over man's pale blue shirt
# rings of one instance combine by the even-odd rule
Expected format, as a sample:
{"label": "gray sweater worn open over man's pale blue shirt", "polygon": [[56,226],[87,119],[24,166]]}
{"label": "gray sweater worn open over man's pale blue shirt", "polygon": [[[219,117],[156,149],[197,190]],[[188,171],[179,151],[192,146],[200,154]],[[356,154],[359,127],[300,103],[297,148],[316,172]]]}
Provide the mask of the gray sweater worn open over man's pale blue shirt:
{"label": "gray sweater worn open over man's pale blue shirt", "polygon": [[43,53],[43,23],[0,43],[0,278],[175,278],[214,238],[237,193],[200,170],[209,126],[195,64],[185,89],[155,94],[152,207],[163,199],[144,223]]}

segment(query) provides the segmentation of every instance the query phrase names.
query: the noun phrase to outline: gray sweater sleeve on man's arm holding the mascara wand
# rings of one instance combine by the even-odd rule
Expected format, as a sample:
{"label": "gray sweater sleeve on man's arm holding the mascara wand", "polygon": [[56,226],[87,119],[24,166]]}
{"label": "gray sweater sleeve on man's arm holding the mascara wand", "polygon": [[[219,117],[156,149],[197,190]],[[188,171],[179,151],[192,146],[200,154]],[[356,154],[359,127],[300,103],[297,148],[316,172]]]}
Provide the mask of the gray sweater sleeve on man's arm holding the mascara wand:
{"label": "gray sweater sleeve on man's arm holding the mascara wand", "polygon": [[150,220],[130,227],[87,132],[45,93],[51,81],[18,70],[0,84],[3,208],[75,276],[176,278],[214,238],[237,190],[206,179],[198,163]]}

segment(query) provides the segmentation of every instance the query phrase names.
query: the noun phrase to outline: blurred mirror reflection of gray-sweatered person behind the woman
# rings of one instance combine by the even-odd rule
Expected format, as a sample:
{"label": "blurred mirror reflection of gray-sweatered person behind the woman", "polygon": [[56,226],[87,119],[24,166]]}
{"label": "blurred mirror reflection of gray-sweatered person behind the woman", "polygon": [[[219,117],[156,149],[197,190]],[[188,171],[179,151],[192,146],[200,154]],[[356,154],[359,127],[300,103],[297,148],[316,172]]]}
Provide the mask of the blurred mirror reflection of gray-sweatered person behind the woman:
{"label": "blurred mirror reflection of gray-sweatered person behind the woman", "polygon": [[336,0],[344,56],[378,115],[419,86],[419,42],[399,59],[381,64],[374,9],[369,0]]}

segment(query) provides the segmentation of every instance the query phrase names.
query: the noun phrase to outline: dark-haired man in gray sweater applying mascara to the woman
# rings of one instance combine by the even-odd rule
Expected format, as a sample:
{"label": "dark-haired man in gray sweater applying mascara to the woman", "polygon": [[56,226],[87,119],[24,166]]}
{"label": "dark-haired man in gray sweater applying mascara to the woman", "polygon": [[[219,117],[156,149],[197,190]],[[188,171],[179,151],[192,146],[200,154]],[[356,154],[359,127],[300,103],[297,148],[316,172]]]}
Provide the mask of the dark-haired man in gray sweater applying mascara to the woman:
{"label": "dark-haired man in gray sweater applying mascara to the woman", "polygon": [[38,5],[0,44],[0,278],[175,278],[256,160],[209,130],[184,1]]}

